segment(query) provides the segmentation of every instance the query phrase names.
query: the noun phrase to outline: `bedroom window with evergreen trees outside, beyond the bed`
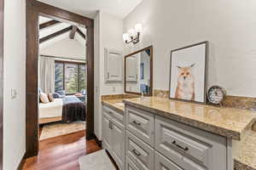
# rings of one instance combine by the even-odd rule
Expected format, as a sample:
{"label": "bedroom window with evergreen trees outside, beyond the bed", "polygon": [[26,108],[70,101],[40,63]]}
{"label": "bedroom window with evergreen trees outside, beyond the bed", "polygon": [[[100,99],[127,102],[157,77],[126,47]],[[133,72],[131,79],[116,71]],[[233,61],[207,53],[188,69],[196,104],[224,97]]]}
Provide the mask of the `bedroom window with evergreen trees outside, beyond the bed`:
{"label": "bedroom window with evergreen trees outside, beyond the bed", "polygon": [[86,65],[55,62],[55,91],[65,90],[66,94],[81,92],[87,88],[86,76]]}

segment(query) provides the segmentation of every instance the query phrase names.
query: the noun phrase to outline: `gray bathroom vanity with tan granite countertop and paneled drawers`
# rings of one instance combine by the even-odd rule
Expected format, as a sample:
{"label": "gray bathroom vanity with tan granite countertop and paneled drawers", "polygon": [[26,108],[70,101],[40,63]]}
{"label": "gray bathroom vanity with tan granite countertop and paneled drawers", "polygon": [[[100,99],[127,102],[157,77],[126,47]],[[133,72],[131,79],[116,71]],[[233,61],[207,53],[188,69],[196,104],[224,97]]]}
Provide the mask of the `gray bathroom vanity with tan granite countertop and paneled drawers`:
{"label": "gray bathroom vanity with tan granite countertop and paneled drawers", "polygon": [[240,147],[255,112],[158,97],[120,102],[102,101],[102,144],[119,169],[253,169]]}

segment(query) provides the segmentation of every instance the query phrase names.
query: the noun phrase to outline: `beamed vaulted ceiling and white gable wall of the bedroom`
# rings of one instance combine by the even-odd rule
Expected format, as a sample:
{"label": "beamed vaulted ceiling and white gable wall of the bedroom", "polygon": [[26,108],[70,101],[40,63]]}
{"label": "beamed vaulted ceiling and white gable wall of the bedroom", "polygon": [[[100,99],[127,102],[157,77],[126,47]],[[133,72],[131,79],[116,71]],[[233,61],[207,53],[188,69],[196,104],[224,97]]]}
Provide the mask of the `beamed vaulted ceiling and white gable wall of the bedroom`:
{"label": "beamed vaulted ceiling and white gable wall of the bedroom", "polygon": [[39,16],[39,53],[85,59],[86,29]]}

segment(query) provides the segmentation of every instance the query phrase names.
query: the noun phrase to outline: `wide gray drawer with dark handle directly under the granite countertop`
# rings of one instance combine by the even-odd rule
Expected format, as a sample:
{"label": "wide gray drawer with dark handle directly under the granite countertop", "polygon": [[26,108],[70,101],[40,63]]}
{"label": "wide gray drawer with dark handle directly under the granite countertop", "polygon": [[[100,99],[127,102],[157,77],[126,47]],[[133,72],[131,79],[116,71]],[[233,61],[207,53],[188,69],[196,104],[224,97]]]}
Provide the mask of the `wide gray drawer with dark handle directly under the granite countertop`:
{"label": "wide gray drawer with dark handle directly under the granite countertop", "polygon": [[155,150],[184,169],[226,169],[224,137],[161,116],[155,117]]}

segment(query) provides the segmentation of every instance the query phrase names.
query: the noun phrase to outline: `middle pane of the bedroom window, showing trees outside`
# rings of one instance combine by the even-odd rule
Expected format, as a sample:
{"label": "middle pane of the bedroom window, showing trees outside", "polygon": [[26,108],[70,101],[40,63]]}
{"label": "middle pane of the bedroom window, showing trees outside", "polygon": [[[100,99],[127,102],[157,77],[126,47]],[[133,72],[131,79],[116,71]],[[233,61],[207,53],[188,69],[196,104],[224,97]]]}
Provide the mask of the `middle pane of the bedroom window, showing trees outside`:
{"label": "middle pane of the bedroom window, showing trees outside", "polygon": [[65,64],[65,86],[67,94],[75,94],[79,88],[79,71],[76,64]]}

